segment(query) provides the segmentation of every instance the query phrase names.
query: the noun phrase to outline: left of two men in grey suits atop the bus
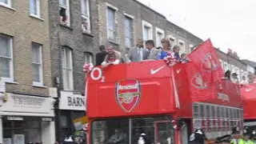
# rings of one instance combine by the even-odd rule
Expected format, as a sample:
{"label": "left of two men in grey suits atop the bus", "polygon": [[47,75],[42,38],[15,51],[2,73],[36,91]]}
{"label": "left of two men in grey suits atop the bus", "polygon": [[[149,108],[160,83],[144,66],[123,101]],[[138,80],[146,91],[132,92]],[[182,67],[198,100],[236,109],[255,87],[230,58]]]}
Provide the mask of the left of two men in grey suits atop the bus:
{"label": "left of two men in grey suits atop the bus", "polygon": [[137,45],[130,48],[128,52],[128,62],[140,62],[147,59],[149,52],[143,46],[143,39],[138,39]]}

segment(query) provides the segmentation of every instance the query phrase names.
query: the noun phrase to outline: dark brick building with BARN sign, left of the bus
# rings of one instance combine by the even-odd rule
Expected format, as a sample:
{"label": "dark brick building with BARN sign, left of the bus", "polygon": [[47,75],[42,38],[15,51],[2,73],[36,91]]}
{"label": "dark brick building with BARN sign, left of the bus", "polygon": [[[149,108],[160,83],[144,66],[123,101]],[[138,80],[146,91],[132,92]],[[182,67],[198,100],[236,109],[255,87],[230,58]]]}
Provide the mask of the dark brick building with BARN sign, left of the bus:
{"label": "dark brick building with BARN sign, left of the bus", "polygon": [[84,116],[85,62],[98,50],[97,7],[94,0],[50,0],[52,82],[58,87],[56,133],[59,141],[74,134],[74,119]]}

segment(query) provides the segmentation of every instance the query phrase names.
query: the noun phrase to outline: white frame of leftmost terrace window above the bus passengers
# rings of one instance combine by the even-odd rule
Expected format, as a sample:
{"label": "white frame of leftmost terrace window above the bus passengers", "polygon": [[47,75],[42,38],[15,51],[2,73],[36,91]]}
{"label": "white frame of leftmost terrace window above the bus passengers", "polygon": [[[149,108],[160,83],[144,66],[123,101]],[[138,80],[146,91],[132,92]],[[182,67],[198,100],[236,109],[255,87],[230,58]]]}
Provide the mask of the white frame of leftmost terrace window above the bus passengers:
{"label": "white frame of leftmost terrace window above the bus passengers", "polygon": [[[109,34],[109,15],[108,15],[108,10],[109,9],[112,9],[114,10],[114,39],[111,39],[110,38],[110,34]],[[107,38],[110,40],[110,41],[114,41],[114,42],[117,42],[118,41],[118,29],[117,29],[117,11],[118,11],[118,8],[113,6],[113,5],[110,5],[109,3],[106,2],[106,33],[107,33]]]}

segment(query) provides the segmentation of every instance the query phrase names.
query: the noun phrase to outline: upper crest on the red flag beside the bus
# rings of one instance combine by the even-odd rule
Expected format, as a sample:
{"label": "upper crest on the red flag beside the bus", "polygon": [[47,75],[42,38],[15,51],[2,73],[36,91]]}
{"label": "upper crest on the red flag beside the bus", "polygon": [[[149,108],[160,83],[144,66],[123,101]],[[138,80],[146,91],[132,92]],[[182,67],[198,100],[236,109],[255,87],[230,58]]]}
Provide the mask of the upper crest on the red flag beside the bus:
{"label": "upper crest on the red flag beside the bus", "polygon": [[218,65],[214,62],[214,58],[212,58],[211,54],[207,54],[205,59],[202,60],[202,70],[211,71],[217,70]]}

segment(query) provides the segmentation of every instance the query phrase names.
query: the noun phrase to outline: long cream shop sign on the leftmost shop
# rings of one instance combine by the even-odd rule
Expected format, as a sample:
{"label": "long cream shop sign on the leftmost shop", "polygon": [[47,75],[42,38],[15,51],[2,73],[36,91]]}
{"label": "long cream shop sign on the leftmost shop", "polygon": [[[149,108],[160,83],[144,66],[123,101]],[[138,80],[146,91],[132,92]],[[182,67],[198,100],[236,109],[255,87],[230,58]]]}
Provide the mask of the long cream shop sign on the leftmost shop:
{"label": "long cream shop sign on the leftmost shop", "polygon": [[[8,100],[2,105],[2,112],[51,114],[52,98],[8,94]],[[32,114],[33,115],[33,114]]]}

